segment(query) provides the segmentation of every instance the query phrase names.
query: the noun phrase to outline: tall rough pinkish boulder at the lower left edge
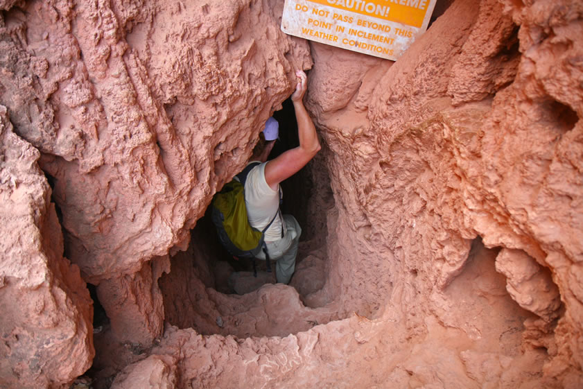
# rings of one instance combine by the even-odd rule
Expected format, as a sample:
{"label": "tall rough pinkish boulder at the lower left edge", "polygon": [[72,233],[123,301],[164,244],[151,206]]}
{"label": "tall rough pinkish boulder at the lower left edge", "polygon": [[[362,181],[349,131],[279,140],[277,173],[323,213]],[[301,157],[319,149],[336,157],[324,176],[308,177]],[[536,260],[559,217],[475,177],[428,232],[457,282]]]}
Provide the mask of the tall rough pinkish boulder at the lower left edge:
{"label": "tall rough pinkish boulder at the lower left edge", "polygon": [[2,105],[0,156],[0,387],[60,387],[91,365],[92,301],[63,257],[38,150],[12,132]]}

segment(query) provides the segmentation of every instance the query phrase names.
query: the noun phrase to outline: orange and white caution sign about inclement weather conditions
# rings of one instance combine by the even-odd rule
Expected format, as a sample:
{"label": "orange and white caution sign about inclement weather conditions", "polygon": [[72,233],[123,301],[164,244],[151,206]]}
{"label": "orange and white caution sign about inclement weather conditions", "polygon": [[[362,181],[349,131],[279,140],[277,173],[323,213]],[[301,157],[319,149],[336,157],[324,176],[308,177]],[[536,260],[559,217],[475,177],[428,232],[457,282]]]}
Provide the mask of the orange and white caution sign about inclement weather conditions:
{"label": "orange and white caution sign about inclement weather conditions", "polygon": [[436,0],[286,0],[281,31],[397,60],[424,33]]}

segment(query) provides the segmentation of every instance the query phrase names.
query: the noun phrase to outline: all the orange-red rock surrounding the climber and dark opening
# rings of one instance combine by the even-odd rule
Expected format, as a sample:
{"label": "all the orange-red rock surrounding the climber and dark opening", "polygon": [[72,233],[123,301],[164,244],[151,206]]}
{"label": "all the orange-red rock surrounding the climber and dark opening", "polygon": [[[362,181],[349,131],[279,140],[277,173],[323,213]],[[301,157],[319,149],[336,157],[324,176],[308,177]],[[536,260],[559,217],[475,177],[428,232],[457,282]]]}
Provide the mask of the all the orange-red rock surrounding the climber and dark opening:
{"label": "all the orange-red rock surrounding the climber and dark opening", "polygon": [[[583,388],[583,2],[440,1],[396,62],[282,10],[0,0],[0,388]],[[201,218],[295,69],[295,288],[227,295]]]}

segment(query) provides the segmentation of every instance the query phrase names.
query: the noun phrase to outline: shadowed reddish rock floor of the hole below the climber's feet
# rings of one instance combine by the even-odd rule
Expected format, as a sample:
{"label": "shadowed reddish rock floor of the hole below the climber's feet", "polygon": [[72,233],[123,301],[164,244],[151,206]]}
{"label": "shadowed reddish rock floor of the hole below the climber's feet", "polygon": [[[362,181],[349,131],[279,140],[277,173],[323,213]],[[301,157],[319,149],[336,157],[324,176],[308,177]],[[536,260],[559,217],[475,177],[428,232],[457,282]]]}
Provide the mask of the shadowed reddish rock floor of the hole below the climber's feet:
{"label": "shadowed reddish rock floor of the hole below the climber's feet", "polygon": [[[248,277],[254,281],[252,273]],[[201,279],[190,257],[179,254],[173,258],[170,273],[160,279],[164,313],[171,325],[204,335],[247,338],[287,336],[339,318],[335,304],[306,308],[297,291],[283,284],[254,285],[245,295],[225,295],[208,288]]]}

